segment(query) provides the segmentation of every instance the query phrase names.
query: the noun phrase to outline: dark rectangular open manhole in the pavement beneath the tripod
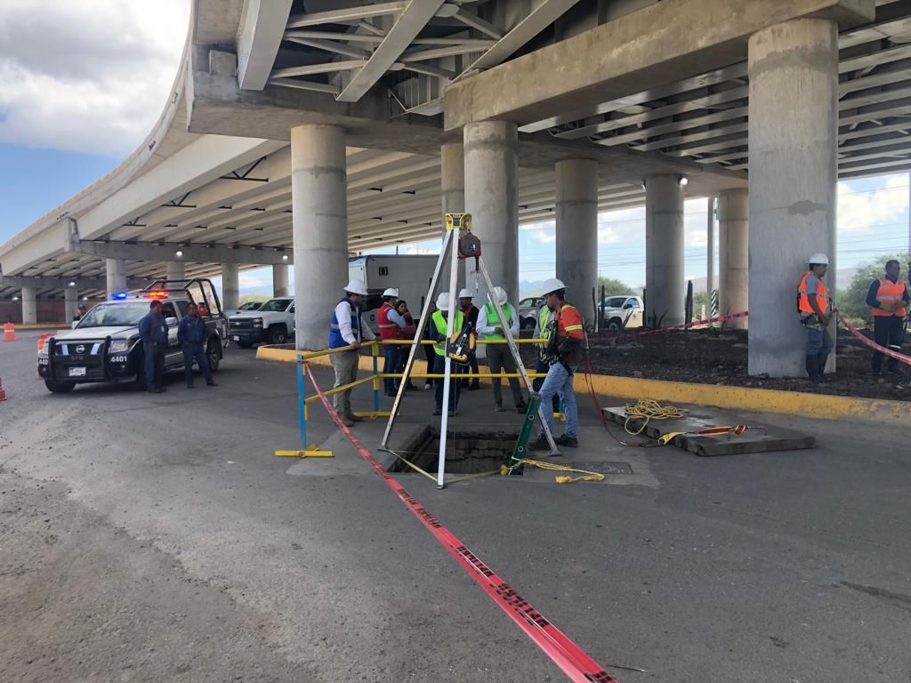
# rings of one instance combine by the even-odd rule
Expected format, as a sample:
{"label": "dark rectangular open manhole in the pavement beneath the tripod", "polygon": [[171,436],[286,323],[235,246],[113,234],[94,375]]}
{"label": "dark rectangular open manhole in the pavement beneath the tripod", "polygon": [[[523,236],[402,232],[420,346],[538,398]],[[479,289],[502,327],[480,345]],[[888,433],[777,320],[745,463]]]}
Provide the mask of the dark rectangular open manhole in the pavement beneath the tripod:
{"label": "dark rectangular open manhole in the pavement beneath the tripod", "polygon": [[[498,470],[509,459],[516,446],[518,432],[456,429],[446,438],[446,474],[476,474]],[[425,426],[396,450],[405,460],[427,473],[439,468],[440,430]],[[396,459],[389,472],[411,472],[411,468]],[[514,473],[519,474],[519,473]]]}

